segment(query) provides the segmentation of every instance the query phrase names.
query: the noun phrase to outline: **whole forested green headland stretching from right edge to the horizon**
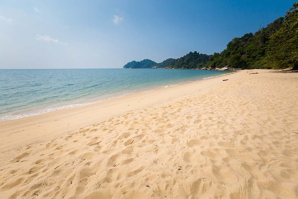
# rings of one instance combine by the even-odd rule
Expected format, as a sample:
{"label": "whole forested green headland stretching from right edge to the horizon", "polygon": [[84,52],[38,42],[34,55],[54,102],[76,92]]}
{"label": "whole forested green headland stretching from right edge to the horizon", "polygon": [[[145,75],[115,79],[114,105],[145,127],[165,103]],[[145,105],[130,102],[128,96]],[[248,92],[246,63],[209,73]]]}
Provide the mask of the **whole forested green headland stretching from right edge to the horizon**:
{"label": "whole forested green headland stretching from right edge to the horizon", "polygon": [[280,17],[253,33],[236,37],[221,53],[207,55],[190,52],[181,58],[168,58],[161,63],[150,59],[131,61],[123,68],[167,69],[298,69],[298,3]]}

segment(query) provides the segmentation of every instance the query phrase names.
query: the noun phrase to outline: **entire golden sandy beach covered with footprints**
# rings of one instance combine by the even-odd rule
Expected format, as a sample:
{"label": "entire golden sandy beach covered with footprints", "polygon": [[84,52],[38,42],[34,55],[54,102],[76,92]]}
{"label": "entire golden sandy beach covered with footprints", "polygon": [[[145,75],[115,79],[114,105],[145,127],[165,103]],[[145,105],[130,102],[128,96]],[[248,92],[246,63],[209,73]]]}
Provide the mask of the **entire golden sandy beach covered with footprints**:
{"label": "entire golden sandy beach covered with footprints", "polygon": [[297,99],[298,73],[243,70],[0,122],[0,195],[298,198]]}

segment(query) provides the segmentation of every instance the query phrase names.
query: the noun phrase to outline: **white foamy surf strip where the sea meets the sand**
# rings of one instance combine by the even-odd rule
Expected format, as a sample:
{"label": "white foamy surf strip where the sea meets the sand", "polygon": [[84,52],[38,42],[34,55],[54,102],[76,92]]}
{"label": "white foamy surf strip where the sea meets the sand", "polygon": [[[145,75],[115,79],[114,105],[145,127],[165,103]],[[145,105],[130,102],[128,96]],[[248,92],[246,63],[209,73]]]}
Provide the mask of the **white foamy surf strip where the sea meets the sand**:
{"label": "white foamy surf strip where the sea meets the sand", "polygon": [[[82,107],[82,106],[86,106],[86,105],[90,105],[90,104],[96,104],[96,103],[100,103],[100,102],[103,102],[103,101],[107,101],[107,100],[111,100],[111,99],[117,99],[117,98],[129,96],[129,95],[135,95],[135,94],[139,94],[139,93],[151,92],[151,91],[154,91],[154,90],[159,90],[159,89],[163,89],[163,88],[167,88],[167,87],[179,86],[179,85],[182,85],[182,84],[189,84],[189,83],[198,82],[198,81],[202,81],[202,80],[209,79],[209,78],[215,78],[215,77],[220,77],[220,76],[224,76],[224,75],[229,75],[229,74],[232,74],[232,73],[235,73],[235,72],[238,72],[238,71],[226,73],[226,74],[223,74],[223,75],[217,75],[217,76],[202,78],[202,79],[198,79],[198,80],[194,80],[194,81],[184,81],[184,82],[181,82],[180,84],[170,84],[170,85],[161,86],[161,87],[152,87],[152,89],[146,88],[146,89],[150,89],[150,90],[146,90],[145,88],[143,88],[143,89],[139,89],[139,90],[134,91],[134,92],[129,92],[128,91],[128,92],[125,92],[125,93],[118,93],[118,94],[116,93],[115,95],[111,95],[108,98],[94,97],[89,102],[80,102],[80,103],[75,103],[74,102],[74,104],[64,104],[64,105],[59,105],[59,106],[57,105],[58,107],[55,107],[55,105],[52,105],[52,107],[50,105],[45,105],[43,107],[43,109],[31,108],[31,109],[24,110],[24,111],[18,111],[18,112],[15,112],[13,114],[7,114],[7,115],[4,115],[4,116],[0,116],[0,122],[16,120],[16,119],[35,116],[35,115],[41,115],[41,114],[45,114],[45,113],[48,113],[48,112],[62,110],[62,109]],[[81,100],[82,99],[80,99],[80,101]],[[18,114],[16,114],[16,113],[18,113]],[[5,118],[5,117],[11,117],[12,119],[1,120],[1,118]]]}

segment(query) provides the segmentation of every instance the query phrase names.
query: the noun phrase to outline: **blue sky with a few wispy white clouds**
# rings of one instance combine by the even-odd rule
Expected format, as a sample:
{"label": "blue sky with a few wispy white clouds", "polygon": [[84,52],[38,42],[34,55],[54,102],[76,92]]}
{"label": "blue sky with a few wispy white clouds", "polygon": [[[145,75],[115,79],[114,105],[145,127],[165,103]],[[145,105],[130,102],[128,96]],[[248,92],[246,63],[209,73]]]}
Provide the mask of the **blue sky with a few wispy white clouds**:
{"label": "blue sky with a few wispy white clouds", "polygon": [[294,1],[0,0],[0,69],[122,68],[221,52]]}

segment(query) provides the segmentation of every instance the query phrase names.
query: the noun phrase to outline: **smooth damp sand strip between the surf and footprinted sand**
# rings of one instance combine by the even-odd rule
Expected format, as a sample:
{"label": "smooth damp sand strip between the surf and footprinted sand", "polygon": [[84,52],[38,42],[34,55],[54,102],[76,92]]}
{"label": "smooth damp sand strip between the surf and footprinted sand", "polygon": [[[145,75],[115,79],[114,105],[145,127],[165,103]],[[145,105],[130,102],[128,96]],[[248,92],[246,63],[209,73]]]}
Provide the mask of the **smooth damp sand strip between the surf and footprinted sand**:
{"label": "smooth damp sand strip between the surf and footprinted sand", "polygon": [[[242,72],[245,72],[244,70]],[[225,75],[229,75],[229,77],[235,78],[235,74],[238,74],[238,72],[235,73],[228,73]],[[94,104],[88,104],[84,106],[79,107],[72,107],[69,109],[60,109],[52,112],[47,112],[44,114],[39,115],[32,115],[29,117],[24,118],[18,118],[14,120],[7,120],[7,121],[0,121],[0,129],[2,129],[2,135],[4,136],[4,143],[1,143],[0,141],[0,151],[3,152],[5,149],[11,149],[14,144],[11,144],[11,139],[8,137],[8,132],[13,132],[13,134],[21,134],[21,137],[23,140],[17,141],[17,145],[19,144],[30,144],[33,142],[40,142],[45,141],[47,139],[53,138],[53,136],[63,135],[65,133],[73,132],[80,127],[85,127],[88,125],[91,125],[98,120],[102,120],[107,117],[112,117],[114,115],[118,115],[123,112],[127,112],[133,109],[151,106],[155,103],[160,103],[161,101],[166,101],[168,99],[173,99],[175,97],[181,97],[183,96],[179,92],[175,93],[175,90],[179,90],[181,87],[190,87],[195,84],[198,84],[201,86],[201,89],[196,89],[193,87],[190,87],[190,90],[184,90],[185,94],[190,94],[194,90],[204,90],[207,88],[211,88],[213,86],[217,86],[217,84],[220,84],[222,82],[221,76],[204,79],[200,81],[195,81],[187,84],[180,84],[174,87],[167,87],[167,88],[161,88],[149,92],[143,92],[133,95],[126,95],[124,97],[120,98],[114,98],[109,99],[102,102],[97,102]],[[177,88],[177,89],[176,89]],[[164,92],[168,93],[170,96],[169,98],[164,98]],[[153,96],[158,95],[158,98],[153,98]],[[140,100],[143,100],[143,98],[147,98],[144,102],[141,102]],[[151,101],[148,101],[148,98],[151,99]],[[131,102],[130,105],[125,105],[127,102]],[[117,107],[110,111],[109,109]],[[103,114],[96,113],[96,111],[103,110]],[[77,115],[80,114],[80,115]],[[92,119],[90,121],[86,120],[86,118],[90,118],[88,115],[93,115]],[[103,116],[105,115],[105,116]],[[71,119],[69,119],[71,117]],[[78,124],[74,124],[77,121],[77,118],[85,118],[81,120]],[[28,125],[29,124],[29,125]],[[53,126],[52,129],[48,129],[49,126]],[[46,134],[39,135],[40,130],[36,127],[39,127],[40,129],[43,129],[43,131],[46,131]],[[35,135],[30,136],[29,138],[27,135]],[[5,139],[6,138],[6,139]],[[41,140],[39,140],[41,139]],[[5,150],[6,151],[6,150]]]}

